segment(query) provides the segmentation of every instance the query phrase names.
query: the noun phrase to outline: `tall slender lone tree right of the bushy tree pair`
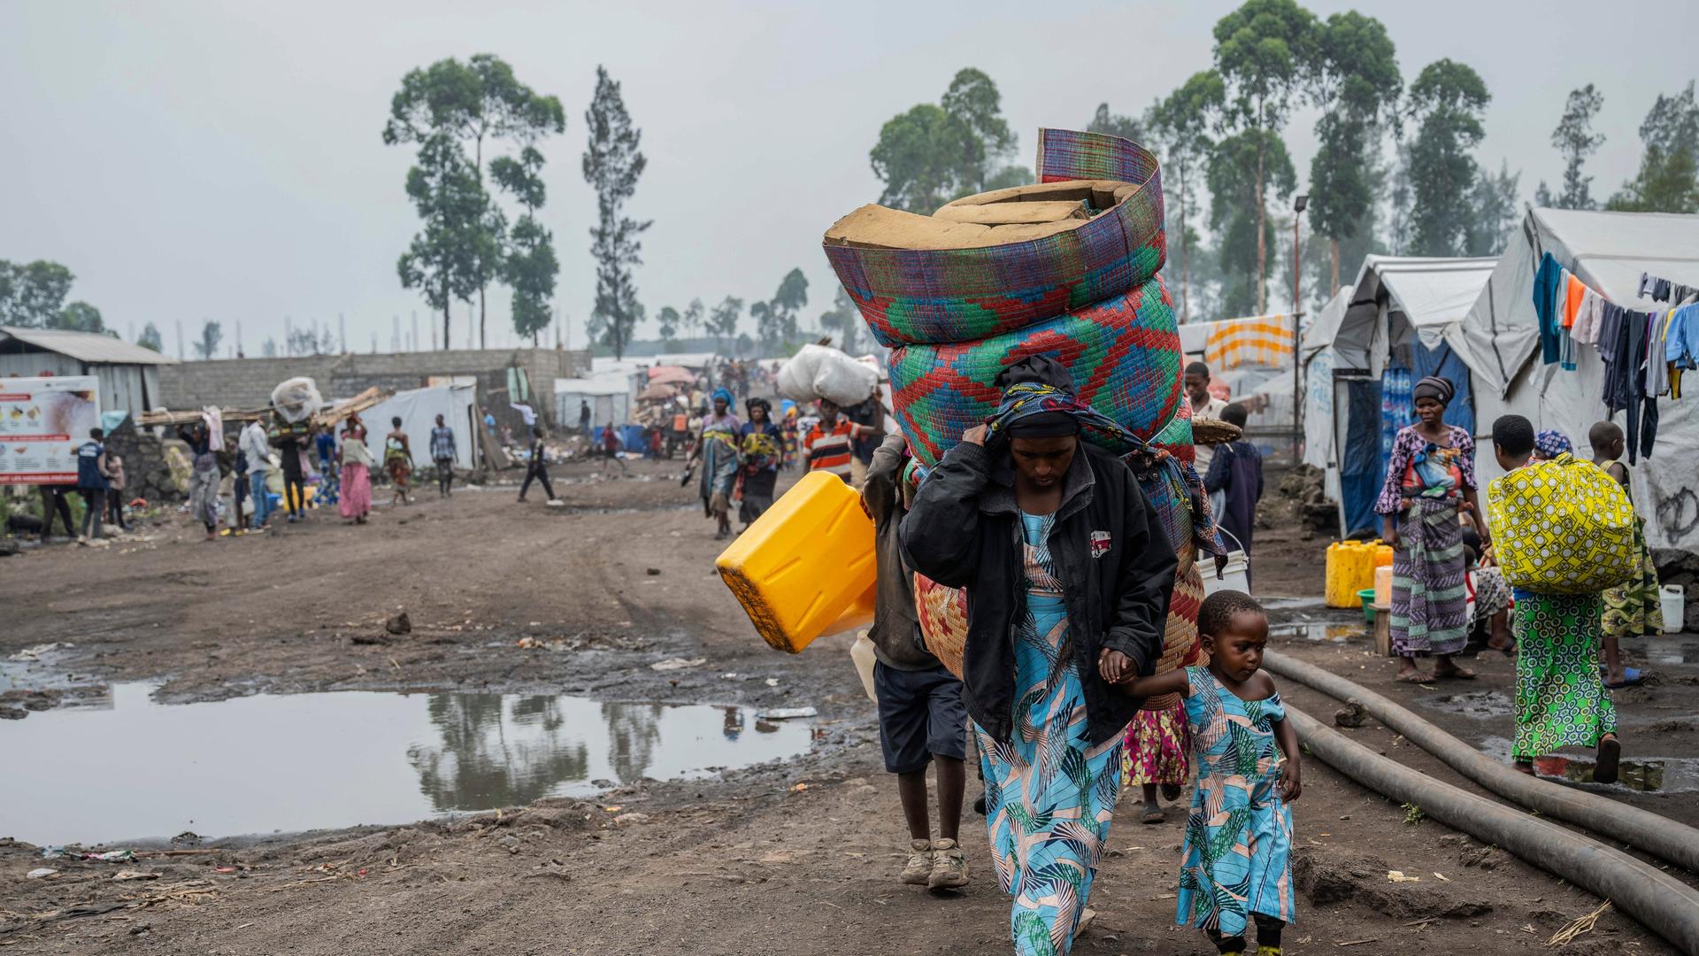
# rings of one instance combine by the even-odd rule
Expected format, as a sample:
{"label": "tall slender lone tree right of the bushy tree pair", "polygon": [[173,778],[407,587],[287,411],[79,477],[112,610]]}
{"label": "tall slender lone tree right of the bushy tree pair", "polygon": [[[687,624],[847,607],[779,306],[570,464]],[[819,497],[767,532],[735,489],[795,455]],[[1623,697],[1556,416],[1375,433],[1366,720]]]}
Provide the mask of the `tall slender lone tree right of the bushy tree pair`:
{"label": "tall slender lone tree right of the bushy tree pair", "polygon": [[596,66],[596,92],[584,111],[590,141],[584,146],[584,182],[596,191],[596,225],[591,226],[590,253],[596,259],[596,308],[601,339],[615,357],[625,354],[632,330],[642,318],[632,265],[642,264],[637,236],[651,221],[624,214],[625,202],[637,192],[637,179],[649,165],[642,155],[642,131],[632,126],[620,85]]}

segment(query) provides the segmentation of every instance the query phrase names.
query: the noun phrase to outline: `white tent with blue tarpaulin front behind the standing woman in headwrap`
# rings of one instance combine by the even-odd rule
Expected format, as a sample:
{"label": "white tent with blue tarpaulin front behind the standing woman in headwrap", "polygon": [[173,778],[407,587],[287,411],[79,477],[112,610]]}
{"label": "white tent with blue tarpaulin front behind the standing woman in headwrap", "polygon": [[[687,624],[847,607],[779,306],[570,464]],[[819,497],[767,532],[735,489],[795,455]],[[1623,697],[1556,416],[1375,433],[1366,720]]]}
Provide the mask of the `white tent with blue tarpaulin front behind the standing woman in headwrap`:
{"label": "white tent with blue tarpaulin front behind the standing woman in headwrap", "polygon": [[[1444,376],[1456,384],[1446,422],[1473,432],[1470,369],[1449,333],[1487,286],[1495,259],[1369,255],[1358,281],[1310,325],[1301,352],[1310,373],[1307,403],[1330,391],[1324,420],[1334,427],[1329,493],[1339,502],[1339,532],[1373,532],[1374,498],[1386,478],[1391,435],[1414,420],[1410,384]],[[1325,367],[1324,367],[1325,366]],[[1330,390],[1318,388],[1325,378]],[[1310,413],[1317,418],[1315,410]]]}

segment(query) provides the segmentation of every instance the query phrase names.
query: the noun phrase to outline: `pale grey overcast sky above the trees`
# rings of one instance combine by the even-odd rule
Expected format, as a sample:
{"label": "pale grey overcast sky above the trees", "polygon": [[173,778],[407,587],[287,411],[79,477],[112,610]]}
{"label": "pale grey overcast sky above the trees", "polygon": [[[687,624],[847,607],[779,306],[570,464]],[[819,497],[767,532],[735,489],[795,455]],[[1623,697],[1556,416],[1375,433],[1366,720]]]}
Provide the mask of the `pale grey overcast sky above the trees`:
{"label": "pale grey overcast sky above the trees", "polygon": [[[1526,197],[1561,175],[1548,136],[1570,88],[1604,94],[1590,170],[1609,194],[1638,163],[1653,97],[1699,73],[1692,56],[1655,53],[1657,37],[1694,36],[1692,0],[1538,15],[1482,0],[1308,5],[1380,17],[1407,82],[1442,56],[1478,70],[1493,95],[1478,158],[1522,170]],[[350,349],[375,333],[387,350],[392,316],[406,335],[418,313],[425,347],[428,310],[396,279],[418,228],[403,192],[413,153],[384,146],[381,129],[409,68],[494,53],[566,105],[566,134],[540,145],[542,214],[574,345],[595,289],[579,156],[598,63],[624,83],[649,156],[632,204],[654,219],[637,272],[649,313],[766,298],[800,265],[812,325],[834,289],[821,233],[878,197],[866,153],[880,124],[979,66],[1030,165],[1038,126],[1082,126],[1103,100],[1138,112],[1206,68],[1232,7],[0,0],[0,259],[66,264],[73,299],[126,337],[156,323],[172,354],[178,322],[194,337],[216,318],[226,342],[240,323],[257,356],[265,337],[282,340],[285,315],[331,327],[345,315]],[[1300,174],[1312,121],[1288,133]],[[494,342],[511,340],[506,315],[493,289]],[[454,322],[460,345],[464,306]]]}

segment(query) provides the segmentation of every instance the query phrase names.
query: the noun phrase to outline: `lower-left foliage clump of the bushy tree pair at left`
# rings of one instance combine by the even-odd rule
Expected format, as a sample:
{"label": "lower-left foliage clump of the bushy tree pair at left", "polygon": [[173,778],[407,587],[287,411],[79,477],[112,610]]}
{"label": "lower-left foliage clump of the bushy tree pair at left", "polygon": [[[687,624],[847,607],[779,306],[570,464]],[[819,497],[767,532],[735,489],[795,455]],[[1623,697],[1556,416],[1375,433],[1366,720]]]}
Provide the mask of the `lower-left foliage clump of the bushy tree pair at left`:
{"label": "lower-left foliage clump of the bushy tree pair at left", "polygon": [[425,228],[396,262],[401,287],[420,289],[442,313],[442,347],[449,347],[449,306],[471,301],[477,289],[476,248],[489,202],[460,145],[438,134],[420,145],[418,165],[408,170],[408,199]]}

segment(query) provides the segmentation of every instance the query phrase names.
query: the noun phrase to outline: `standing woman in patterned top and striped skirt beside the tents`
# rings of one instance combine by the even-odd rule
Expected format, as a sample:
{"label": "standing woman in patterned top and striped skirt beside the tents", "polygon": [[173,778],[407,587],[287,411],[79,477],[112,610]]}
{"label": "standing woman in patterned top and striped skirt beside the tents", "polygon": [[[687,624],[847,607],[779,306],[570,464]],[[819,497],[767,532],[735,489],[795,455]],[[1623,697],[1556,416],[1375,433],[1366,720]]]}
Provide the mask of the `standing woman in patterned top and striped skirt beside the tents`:
{"label": "standing woman in patterned top and striped skirt beside the tents", "polygon": [[[1468,429],[1446,424],[1446,405],[1454,393],[1451,381],[1442,378],[1415,383],[1417,422],[1398,429],[1386,485],[1374,502],[1381,538],[1393,546],[1391,650],[1398,655],[1398,680],[1410,684],[1475,677],[1451,660],[1470,640],[1458,512],[1466,502],[1470,514],[1480,515],[1475,439]],[[1492,544],[1487,522],[1478,524],[1482,546]],[[1437,658],[1434,674],[1415,667],[1417,657],[1429,655]]]}

